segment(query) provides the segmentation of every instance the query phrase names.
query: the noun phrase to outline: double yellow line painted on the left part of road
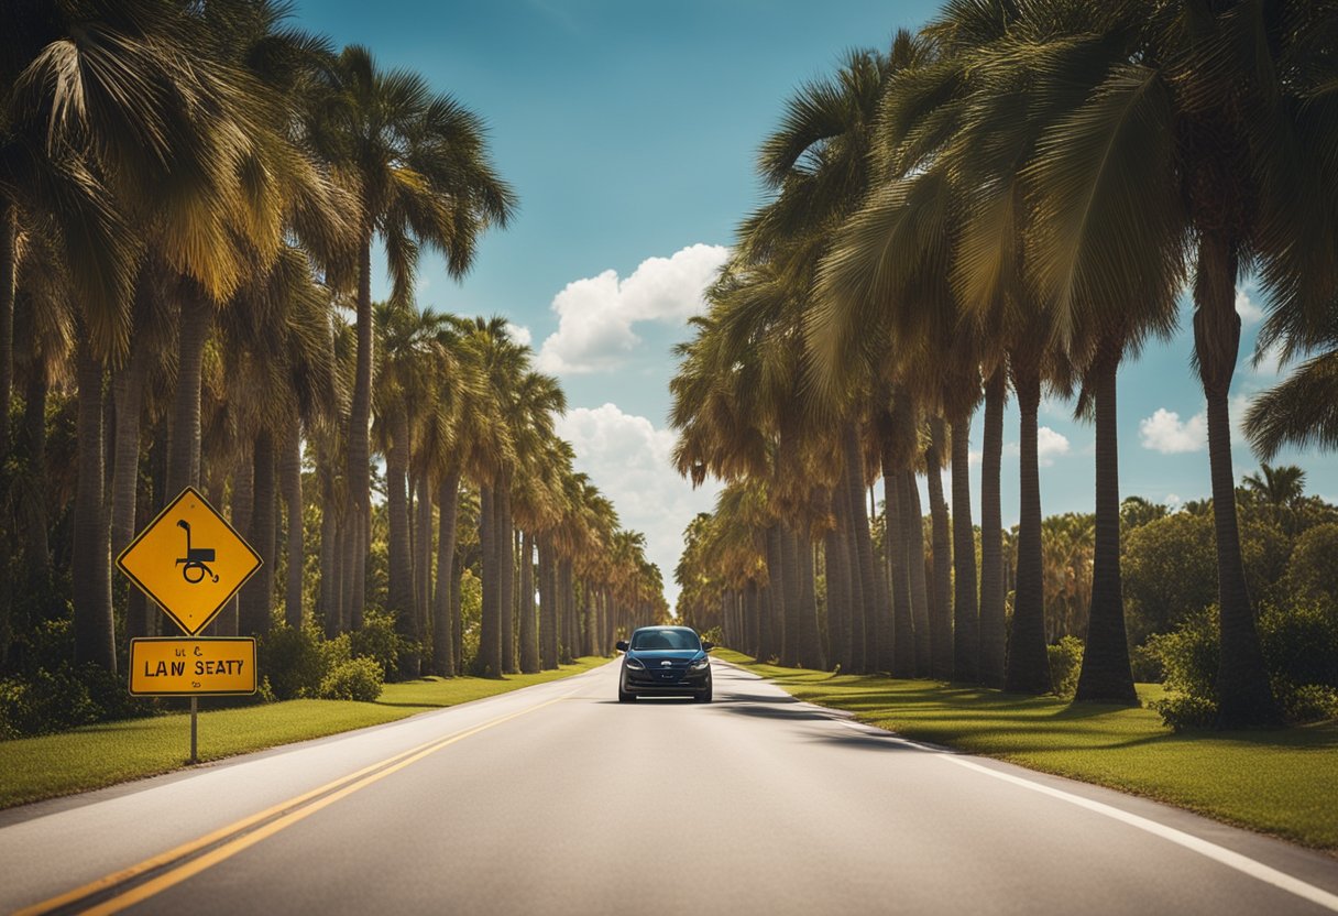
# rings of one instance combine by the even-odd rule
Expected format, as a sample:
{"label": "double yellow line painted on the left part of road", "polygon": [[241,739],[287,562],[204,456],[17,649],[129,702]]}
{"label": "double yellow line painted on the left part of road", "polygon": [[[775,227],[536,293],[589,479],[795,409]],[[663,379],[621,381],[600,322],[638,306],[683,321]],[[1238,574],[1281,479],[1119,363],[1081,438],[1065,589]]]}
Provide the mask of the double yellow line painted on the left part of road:
{"label": "double yellow line painted on the left part of road", "polygon": [[[218,862],[231,858],[244,849],[254,846],[261,840],[274,836],[280,830],[310,817],[322,808],[328,808],[339,799],[347,798],[355,791],[365,789],[373,782],[384,779],[392,773],[397,773],[411,763],[421,761],[429,754],[435,754],[443,747],[448,747],[458,741],[464,741],[471,735],[476,735],[480,731],[499,726],[503,722],[510,722],[511,719],[526,715],[527,712],[534,712],[535,710],[542,710],[546,706],[553,706],[563,699],[566,699],[566,695],[543,703],[537,703],[535,706],[526,707],[516,712],[490,719],[483,724],[466,729],[464,731],[458,731],[452,735],[447,735],[446,738],[434,738],[432,741],[424,742],[417,747],[400,751],[399,754],[388,757],[384,761],[365,766],[356,773],[340,777],[333,782],[326,782],[324,786],[282,801],[249,817],[244,817],[242,820],[219,828],[213,833],[207,833],[197,840],[191,840],[190,842],[185,842],[174,849],[169,849],[165,853],[146,858],[142,862],[131,865],[130,868],[112,872],[111,874],[103,876],[96,881],[90,881],[88,884],[75,888],[74,891],[68,891],[60,896],[51,897],[39,904],[33,904],[32,907],[27,907],[25,909],[20,909],[13,916],[37,916],[39,913],[50,913],[63,907],[71,907],[78,904],[80,900],[86,900],[95,895],[103,895],[120,887],[122,884],[134,881],[135,879],[151,872],[169,868],[174,862],[181,862],[158,877],[145,881],[143,884],[136,884],[122,893],[80,911],[84,913],[118,913],[127,907],[132,907],[147,900],[149,897],[153,897],[154,895],[162,893],[167,888],[181,884],[194,874],[199,874],[206,868],[211,868]],[[201,850],[207,852],[197,856],[195,853],[199,853]]]}

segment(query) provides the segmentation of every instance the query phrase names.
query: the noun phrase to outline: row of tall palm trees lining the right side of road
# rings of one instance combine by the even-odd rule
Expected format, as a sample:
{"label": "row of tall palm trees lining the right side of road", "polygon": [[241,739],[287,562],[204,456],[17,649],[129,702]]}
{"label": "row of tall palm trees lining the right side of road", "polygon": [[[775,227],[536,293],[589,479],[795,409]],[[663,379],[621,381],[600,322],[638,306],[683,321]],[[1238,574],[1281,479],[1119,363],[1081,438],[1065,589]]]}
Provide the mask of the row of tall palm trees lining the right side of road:
{"label": "row of tall palm trees lining the right side of road", "polygon": [[[1236,525],[1235,288],[1259,277],[1267,344],[1298,356],[1338,343],[1335,35],[1330,3],[950,0],[888,52],[854,51],[796,92],[761,145],[772,197],[741,224],[672,383],[680,470],[728,482],[716,524],[739,540],[710,572],[736,604],[756,593],[745,615],[756,648],[787,664],[1048,691],[1037,410],[1045,391],[1076,392],[1096,427],[1097,481],[1077,695],[1136,702],[1116,379],[1143,341],[1173,329],[1187,291],[1208,404],[1219,719],[1278,720]],[[1330,366],[1321,354],[1302,367],[1309,403],[1264,398],[1268,410],[1251,412],[1266,457],[1286,442],[1333,443]],[[1005,632],[1009,390],[1021,506]],[[967,435],[982,402],[977,568]],[[870,549],[863,498],[879,475],[886,562]]]}

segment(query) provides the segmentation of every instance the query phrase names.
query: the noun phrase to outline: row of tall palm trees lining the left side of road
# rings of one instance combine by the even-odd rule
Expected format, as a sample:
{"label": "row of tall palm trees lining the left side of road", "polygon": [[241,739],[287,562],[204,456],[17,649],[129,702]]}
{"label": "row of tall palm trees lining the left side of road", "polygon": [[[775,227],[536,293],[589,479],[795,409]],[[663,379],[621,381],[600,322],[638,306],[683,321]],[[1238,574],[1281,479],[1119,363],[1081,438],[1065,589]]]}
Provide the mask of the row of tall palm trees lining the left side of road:
{"label": "row of tall palm trees lining the left side of road", "polygon": [[[380,457],[387,607],[438,674],[459,659],[451,583],[467,490],[482,501],[482,670],[611,651],[615,628],[662,616],[658,572],[554,434],[561,388],[503,320],[413,304],[424,249],[459,279],[483,233],[514,216],[483,121],[367,48],[293,28],[285,9],[7,11],[0,557],[21,576],[0,575],[0,664],[32,623],[15,619],[16,597],[36,585],[58,608],[68,597],[75,662],[115,670],[110,558],[187,485],[226,504],[265,560],[219,632],[266,632],[280,595],[294,627],[314,611],[330,635],[359,628]],[[393,291],[375,304],[381,252]],[[66,394],[72,475],[45,447]],[[320,514],[314,589],[306,505]],[[153,632],[157,615],[131,592],[124,632]],[[420,666],[405,655],[405,675]]]}

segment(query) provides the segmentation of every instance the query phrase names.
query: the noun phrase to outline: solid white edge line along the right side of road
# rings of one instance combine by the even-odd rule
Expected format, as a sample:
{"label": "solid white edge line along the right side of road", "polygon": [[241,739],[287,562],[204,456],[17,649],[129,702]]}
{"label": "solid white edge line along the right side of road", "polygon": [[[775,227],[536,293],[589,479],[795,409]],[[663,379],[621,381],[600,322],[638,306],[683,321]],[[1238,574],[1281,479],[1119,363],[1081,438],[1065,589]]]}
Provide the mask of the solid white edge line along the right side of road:
{"label": "solid white edge line along the right side of road", "polygon": [[1185,833],[1184,830],[1177,830],[1177,829],[1167,826],[1164,824],[1157,824],[1156,821],[1152,821],[1149,818],[1141,817],[1139,814],[1131,814],[1129,812],[1120,810],[1119,808],[1115,808],[1113,805],[1107,805],[1105,802],[1098,802],[1098,801],[1094,801],[1092,798],[1084,798],[1082,795],[1074,795],[1070,791],[1064,791],[1062,789],[1056,789],[1053,786],[1046,786],[1044,783],[1034,782],[1034,781],[1026,779],[1024,777],[1013,775],[1012,773],[1004,773],[1001,770],[995,770],[995,769],[989,767],[989,766],[981,766],[979,763],[975,763],[974,761],[965,759],[959,754],[947,753],[947,751],[939,750],[938,747],[931,747],[929,745],[922,745],[922,743],[915,742],[915,741],[907,741],[906,738],[900,738],[900,737],[892,735],[892,733],[888,733],[888,731],[883,731],[883,730],[878,730],[878,729],[875,729],[875,730],[871,731],[871,729],[874,729],[874,726],[864,726],[864,724],[858,724],[858,723],[854,723],[854,722],[844,722],[842,719],[834,719],[834,722],[836,722],[839,724],[843,724],[847,729],[851,729],[854,731],[859,731],[860,734],[870,735],[870,737],[890,735],[896,742],[900,742],[903,745],[910,745],[911,747],[917,747],[919,750],[927,751],[930,754],[934,754],[935,757],[939,757],[939,758],[942,758],[945,761],[949,761],[950,763],[955,763],[958,766],[965,766],[969,770],[977,770],[977,771],[983,773],[986,775],[991,775],[995,779],[1002,779],[1005,782],[1012,782],[1016,786],[1021,786],[1024,789],[1030,789],[1032,791],[1038,791],[1038,793],[1041,793],[1044,795],[1050,795],[1053,798],[1058,798],[1061,801],[1066,801],[1070,805],[1077,805],[1078,808],[1085,808],[1089,812],[1096,812],[1097,814],[1104,814],[1105,817],[1113,818],[1116,821],[1121,821],[1124,824],[1128,824],[1129,826],[1137,828],[1139,830],[1144,830],[1144,832],[1151,833],[1151,834],[1153,834],[1156,837],[1161,837],[1163,840],[1168,840],[1168,841],[1176,844],[1177,846],[1184,846],[1185,849],[1189,849],[1191,852],[1196,852],[1200,856],[1211,858],[1215,862],[1220,862],[1222,865],[1226,865],[1227,868],[1234,868],[1235,870],[1240,872],[1242,874],[1248,874],[1250,877],[1255,879],[1256,881],[1263,881],[1264,884],[1271,884],[1272,887],[1275,887],[1275,888],[1278,888],[1280,891],[1286,891],[1287,893],[1293,893],[1293,895],[1295,895],[1295,896],[1298,896],[1298,897],[1301,897],[1303,900],[1309,900],[1310,903],[1317,904],[1319,907],[1323,907],[1325,909],[1329,909],[1331,912],[1338,912],[1338,895],[1330,893],[1330,892],[1325,891],[1323,888],[1317,888],[1315,885],[1307,884],[1306,881],[1302,881],[1298,877],[1293,877],[1291,874],[1287,874],[1284,872],[1279,872],[1278,869],[1271,868],[1268,865],[1264,865],[1263,862],[1255,861],[1255,860],[1250,858],[1248,856],[1242,856],[1240,853],[1232,852],[1231,849],[1227,849],[1226,846],[1219,846],[1215,842],[1208,842],[1207,840],[1202,840],[1200,837],[1196,837],[1196,836],[1193,836],[1191,833]]}

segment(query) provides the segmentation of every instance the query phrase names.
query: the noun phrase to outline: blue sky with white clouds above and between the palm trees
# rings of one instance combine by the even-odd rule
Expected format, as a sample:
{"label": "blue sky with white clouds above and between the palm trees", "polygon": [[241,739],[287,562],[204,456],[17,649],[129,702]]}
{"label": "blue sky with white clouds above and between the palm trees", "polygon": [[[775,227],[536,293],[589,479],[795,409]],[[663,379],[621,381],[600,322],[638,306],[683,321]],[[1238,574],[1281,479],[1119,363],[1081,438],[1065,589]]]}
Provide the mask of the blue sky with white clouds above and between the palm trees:
{"label": "blue sky with white clouds above and between the palm trees", "polygon": [[[646,532],[669,600],[681,532],[709,509],[668,467],[669,354],[700,308],[701,285],[739,220],[761,201],[760,139],[804,80],[851,47],[886,47],[938,3],[787,0],[298,0],[297,20],[337,46],[361,43],[383,67],[412,68],[488,123],[494,161],[520,197],[519,216],[482,244],[462,284],[421,264],[419,301],[500,313],[529,333],[541,368],[570,400],[562,433],[577,465]],[[388,285],[380,284],[377,295]],[[1248,366],[1258,291],[1244,315],[1236,404],[1275,380]],[[1189,370],[1188,312],[1120,379],[1124,494],[1157,501],[1208,491],[1203,395]],[[1010,411],[1005,442],[1017,441]],[[1042,406],[1042,508],[1090,512],[1092,430],[1069,404]],[[971,439],[979,449],[979,425]],[[1006,446],[1008,449],[1008,446]],[[1286,453],[1309,486],[1338,501],[1338,458]],[[1238,477],[1258,465],[1235,449]],[[1017,520],[1016,455],[1005,455],[1004,518]],[[978,479],[973,506],[979,508]]]}

